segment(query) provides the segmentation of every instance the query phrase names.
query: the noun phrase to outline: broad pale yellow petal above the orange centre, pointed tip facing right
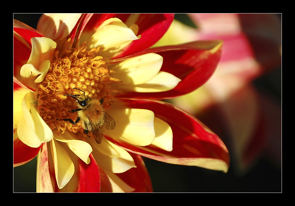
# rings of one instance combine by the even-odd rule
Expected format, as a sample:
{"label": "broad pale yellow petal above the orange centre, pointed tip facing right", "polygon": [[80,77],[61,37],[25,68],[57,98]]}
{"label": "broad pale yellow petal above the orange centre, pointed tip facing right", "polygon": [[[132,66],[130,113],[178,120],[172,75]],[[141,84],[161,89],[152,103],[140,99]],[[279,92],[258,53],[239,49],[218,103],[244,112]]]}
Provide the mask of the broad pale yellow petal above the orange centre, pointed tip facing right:
{"label": "broad pale yellow petal above the orange centre, pointed tip facing right", "polygon": [[[87,36],[87,34],[85,34]],[[82,37],[81,38],[85,38]],[[100,55],[109,57],[118,52],[131,41],[139,39],[132,29],[128,28],[121,20],[108,19],[89,38],[86,46],[88,48],[100,47]],[[83,42],[80,42],[83,43]]]}

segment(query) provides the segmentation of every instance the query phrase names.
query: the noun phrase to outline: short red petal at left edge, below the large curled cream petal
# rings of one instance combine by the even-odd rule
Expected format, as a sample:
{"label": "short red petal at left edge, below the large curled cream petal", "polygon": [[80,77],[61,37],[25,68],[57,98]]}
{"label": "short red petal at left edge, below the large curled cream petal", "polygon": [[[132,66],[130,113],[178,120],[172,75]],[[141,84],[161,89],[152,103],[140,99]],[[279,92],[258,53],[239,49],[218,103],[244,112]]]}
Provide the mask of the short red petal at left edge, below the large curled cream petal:
{"label": "short red petal at left edge, below the large curled cream petal", "polygon": [[13,167],[30,162],[35,156],[37,156],[40,148],[41,146],[38,148],[29,147],[17,138],[13,141]]}

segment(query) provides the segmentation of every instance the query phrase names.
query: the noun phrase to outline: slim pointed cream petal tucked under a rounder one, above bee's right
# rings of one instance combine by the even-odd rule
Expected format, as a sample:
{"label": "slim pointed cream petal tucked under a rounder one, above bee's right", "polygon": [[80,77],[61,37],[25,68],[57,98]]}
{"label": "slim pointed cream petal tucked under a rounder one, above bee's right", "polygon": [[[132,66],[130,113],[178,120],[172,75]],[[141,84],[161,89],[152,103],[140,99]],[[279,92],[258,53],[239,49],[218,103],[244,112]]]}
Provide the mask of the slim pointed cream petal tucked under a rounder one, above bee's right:
{"label": "slim pointed cream petal tucked under a rounder one, above bee's right", "polygon": [[181,79],[176,76],[160,71],[152,80],[145,84],[140,85],[124,85],[118,84],[117,88],[125,91],[135,91],[135,92],[164,92],[172,90]]}

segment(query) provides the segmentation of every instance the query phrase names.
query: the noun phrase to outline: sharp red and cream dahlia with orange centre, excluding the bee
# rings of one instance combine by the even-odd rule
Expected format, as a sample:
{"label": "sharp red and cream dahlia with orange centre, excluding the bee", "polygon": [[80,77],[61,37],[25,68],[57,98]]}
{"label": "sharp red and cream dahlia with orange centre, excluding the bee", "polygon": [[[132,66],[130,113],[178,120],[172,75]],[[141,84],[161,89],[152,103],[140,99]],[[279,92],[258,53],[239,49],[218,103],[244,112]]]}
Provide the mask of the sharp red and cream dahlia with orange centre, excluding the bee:
{"label": "sharp red and cream dahlia with orange centre, excluding the bee", "polygon": [[[227,171],[228,150],[205,125],[159,101],[204,84],[221,41],[150,48],[172,14],[44,14],[14,20],[14,165],[38,153],[37,191],[152,191],[140,157]],[[104,98],[116,129],[83,133],[72,98]],[[131,178],[132,177],[132,178]]]}

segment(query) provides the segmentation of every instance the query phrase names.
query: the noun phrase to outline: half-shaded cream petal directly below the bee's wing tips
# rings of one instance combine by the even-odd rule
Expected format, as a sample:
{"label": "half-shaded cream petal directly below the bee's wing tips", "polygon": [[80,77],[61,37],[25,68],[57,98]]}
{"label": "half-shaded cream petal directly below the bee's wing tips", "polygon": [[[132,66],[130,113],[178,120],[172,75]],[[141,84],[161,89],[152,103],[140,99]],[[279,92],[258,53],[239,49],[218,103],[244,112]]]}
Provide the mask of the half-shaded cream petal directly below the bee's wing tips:
{"label": "half-shaded cream petal directly below the bee's wing tips", "polygon": [[[103,139],[103,142],[107,141]],[[102,147],[106,146],[106,144],[98,145],[93,139],[89,138],[89,142],[93,145],[93,156],[96,160],[97,164],[103,168],[105,171],[109,171],[111,173],[123,173],[129,170],[132,167],[136,167],[131,155],[123,150],[122,148],[116,148],[119,156],[118,157],[110,157],[104,155],[102,152],[105,152],[108,148],[102,149]],[[114,147],[114,146],[112,146]],[[102,151],[102,152],[101,152]]]}

